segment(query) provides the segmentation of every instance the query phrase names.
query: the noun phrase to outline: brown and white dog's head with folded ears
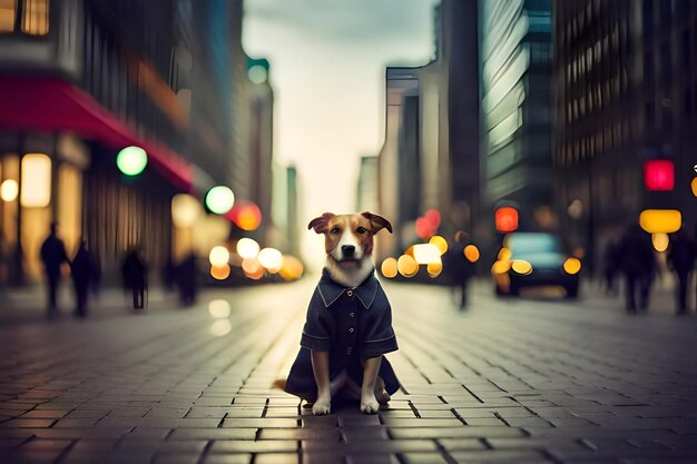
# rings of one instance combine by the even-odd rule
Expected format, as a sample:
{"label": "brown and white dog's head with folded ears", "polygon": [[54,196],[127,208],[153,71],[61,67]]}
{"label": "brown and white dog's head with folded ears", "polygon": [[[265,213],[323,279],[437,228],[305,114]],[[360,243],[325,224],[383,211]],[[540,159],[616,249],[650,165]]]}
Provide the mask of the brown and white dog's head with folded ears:
{"label": "brown and white dog's head with folded ears", "polygon": [[325,213],[307,225],[317,234],[324,234],[327,257],[342,267],[355,267],[373,253],[373,236],[385,228],[392,233],[387,219],[372,213],[335,215]]}

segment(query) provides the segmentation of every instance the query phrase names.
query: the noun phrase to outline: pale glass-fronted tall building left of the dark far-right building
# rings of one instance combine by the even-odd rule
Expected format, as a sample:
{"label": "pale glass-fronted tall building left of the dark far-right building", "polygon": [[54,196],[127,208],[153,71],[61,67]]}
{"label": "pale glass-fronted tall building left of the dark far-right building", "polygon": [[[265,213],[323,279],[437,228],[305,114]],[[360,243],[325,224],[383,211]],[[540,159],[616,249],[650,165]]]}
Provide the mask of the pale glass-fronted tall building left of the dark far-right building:
{"label": "pale glass-fronted tall building left of the dark far-right building", "polygon": [[550,3],[480,1],[483,195],[517,204],[526,229],[552,205]]}

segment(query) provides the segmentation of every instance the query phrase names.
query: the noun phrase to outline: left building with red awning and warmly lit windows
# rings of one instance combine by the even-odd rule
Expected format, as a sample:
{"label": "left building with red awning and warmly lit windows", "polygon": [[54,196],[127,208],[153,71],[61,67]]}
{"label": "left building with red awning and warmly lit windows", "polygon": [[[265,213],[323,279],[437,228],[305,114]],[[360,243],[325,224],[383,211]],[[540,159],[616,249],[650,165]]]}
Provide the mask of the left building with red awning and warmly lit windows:
{"label": "left building with red awning and warmly lit windows", "polygon": [[[237,3],[4,3],[0,176],[18,191],[1,201],[0,280],[39,278],[52,220],[70,251],[80,237],[90,243],[107,276],[132,246],[153,269],[164,265],[176,235],[173,196],[200,197],[232,177]],[[116,167],[128,146],[147,152],[138,176]]]}

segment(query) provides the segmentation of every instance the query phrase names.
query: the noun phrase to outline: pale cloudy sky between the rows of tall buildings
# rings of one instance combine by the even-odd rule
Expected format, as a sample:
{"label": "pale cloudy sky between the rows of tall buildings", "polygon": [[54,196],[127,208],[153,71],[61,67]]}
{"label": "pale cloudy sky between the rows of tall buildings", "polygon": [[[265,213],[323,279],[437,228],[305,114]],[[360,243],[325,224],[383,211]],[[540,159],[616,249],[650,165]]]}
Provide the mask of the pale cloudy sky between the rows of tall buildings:
{"label": "pale cloudy sky between the rows of tall buildings", "polygon": [[[243,45],[271,61],[274,157],[296,166],[301,224],[352,213],[361,156],[384,139],[384,70],[434,51],[438,0],[246,0]],[[376,211],[379,213],[379,211]],[[323,259],[307,231],[303,255]]]}

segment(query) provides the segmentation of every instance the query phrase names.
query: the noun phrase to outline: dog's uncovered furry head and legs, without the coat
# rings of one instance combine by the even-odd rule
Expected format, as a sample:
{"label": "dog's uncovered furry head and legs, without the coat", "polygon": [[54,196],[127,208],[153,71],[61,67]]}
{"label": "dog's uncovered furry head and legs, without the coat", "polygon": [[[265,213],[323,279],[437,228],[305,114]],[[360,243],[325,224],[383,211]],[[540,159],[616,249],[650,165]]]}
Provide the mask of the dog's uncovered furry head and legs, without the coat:
{"label": "dog's uncovered furry head and legs, without the coat", "polygon": [[[325,213],[307,226],[317,234],[324,234],[326,269],[331,278],[347,288],[361,285],[375,270],[373,264],[373,236],[385,228],[392,233],[392,225],[382,216],[365,211],[361,214],[335,215]],[[363,384],[360,386],[361,411],[375,414],[380,404],[390,401],[384,382],[379,377],[382,356],[363,359]],[[317,384],[317,398],[313,405],[315,415],[328,414],[332,395],[351,385],[343,374],[330,382],[330,354],[312,351],[312,368]],[[347,385],[344,385],[347,384]],[[357,392],[355,392],[357,395]]]}

